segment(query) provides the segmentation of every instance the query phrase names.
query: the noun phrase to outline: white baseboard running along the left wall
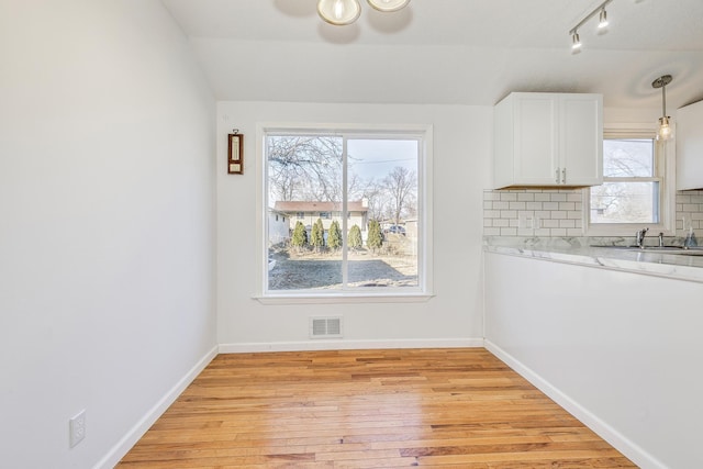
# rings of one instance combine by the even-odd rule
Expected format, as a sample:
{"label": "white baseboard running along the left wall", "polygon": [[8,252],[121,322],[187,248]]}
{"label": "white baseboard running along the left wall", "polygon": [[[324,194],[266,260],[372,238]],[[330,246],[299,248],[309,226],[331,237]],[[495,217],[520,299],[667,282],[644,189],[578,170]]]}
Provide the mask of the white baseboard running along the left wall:
{"label": "white baseboard running along the left wall", "polygon": [[94,466],[93,469],[111,469],[120,462],[130,449],[140,440],[147,429],[166,412],[176,399],[188,388],[198,375],[217,356],[217,347],[213,347],[180,379],[124,437]]}

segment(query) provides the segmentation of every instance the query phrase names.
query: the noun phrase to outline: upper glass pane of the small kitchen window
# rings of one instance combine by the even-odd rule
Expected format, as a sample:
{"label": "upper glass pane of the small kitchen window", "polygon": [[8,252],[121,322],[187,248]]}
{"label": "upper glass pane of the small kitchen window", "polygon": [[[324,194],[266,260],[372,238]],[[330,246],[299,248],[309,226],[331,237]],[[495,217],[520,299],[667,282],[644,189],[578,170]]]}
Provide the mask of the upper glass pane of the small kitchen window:
{"label": "upper glass pane of the small kitchen window", "polygon": [[654,139],[604,139],[603,176],[606,178],[652,177]]}

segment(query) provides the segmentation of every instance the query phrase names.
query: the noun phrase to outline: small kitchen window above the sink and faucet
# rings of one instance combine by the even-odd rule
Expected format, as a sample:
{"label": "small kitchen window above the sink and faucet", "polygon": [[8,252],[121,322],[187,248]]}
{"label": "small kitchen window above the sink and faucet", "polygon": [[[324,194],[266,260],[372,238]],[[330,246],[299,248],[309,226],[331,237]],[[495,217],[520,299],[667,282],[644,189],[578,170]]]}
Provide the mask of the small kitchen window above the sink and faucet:
{"label": "small kitchen window above the sink and faucet", "polygon": [[590,188],[584,212],[590,235],[629,235],[671,226],[666,147],[648,133],[606,133],[603,185]]}

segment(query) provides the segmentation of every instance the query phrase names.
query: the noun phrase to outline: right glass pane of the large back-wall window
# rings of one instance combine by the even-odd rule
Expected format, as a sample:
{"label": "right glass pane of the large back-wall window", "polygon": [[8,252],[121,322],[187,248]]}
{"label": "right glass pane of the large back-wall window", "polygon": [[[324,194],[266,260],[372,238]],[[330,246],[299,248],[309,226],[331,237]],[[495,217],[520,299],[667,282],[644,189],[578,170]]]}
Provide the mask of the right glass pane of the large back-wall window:
{"label": "right glass pane of the large back-wall window", "polygon": [[348,254],[349,287],[417,287],[419,142],[349,139],[347,153],[349,206],[361,203],[368,221]]}

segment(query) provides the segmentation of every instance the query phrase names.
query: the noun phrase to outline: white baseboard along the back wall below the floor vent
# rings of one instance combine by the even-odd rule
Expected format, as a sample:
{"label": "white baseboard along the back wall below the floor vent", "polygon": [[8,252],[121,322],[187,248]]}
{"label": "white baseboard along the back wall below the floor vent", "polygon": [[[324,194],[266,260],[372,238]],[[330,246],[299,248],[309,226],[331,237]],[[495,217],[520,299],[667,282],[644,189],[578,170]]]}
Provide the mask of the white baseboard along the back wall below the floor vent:
{"label": "white baseboard along the back wall below the floor vent", "polygon": [[398,339],[398,340],[335,340],[221,344],[221,354],[256,351],[355,350],[373,348],[476,348],[483,347],[482,338]]}

